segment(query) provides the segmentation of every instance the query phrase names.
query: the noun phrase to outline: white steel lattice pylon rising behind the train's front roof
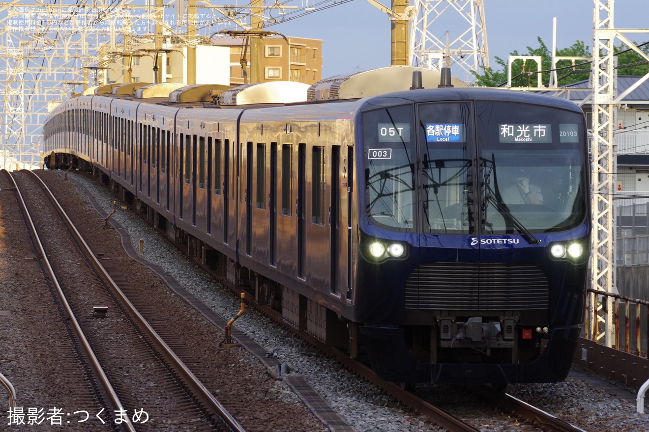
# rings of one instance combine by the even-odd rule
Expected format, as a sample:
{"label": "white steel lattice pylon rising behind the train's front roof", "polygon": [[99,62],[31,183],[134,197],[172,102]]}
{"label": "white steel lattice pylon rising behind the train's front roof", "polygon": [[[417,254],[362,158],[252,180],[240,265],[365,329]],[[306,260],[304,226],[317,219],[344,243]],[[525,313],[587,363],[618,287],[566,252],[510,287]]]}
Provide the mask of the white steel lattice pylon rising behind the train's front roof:
{"label": "white steel lattice pylon rising behind the train's front roof", "polygon": [[[439,69],[450,66],[453,74],[474,81],[471,71],[489,67],[483,0],[414,0],[416,16],[410,27],[410,64]],[[445,26],[464,28],[460,34],[440,35]]]}

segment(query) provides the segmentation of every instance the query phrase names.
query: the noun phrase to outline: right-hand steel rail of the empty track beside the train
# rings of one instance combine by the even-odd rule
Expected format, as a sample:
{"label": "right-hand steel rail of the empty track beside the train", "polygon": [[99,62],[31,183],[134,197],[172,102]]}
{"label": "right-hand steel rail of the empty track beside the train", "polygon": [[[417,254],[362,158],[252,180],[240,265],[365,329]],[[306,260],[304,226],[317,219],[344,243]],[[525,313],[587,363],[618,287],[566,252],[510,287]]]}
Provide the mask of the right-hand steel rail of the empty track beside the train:
{"label": "right-hand steel rail of the empty track beside the train", "polygon": [[184,380],[186,384],[191,388],[191,390],[194,392],[195,396],[201,401],[201,403],[210,411],[213,413],[216,413],[219,415],[225,424],[227,424],[230,429],[234,432],[245,432],[245,429],[243,426],[239,424],[239,422],[232,416],[230,413],[228,413],[227,409],[221,405],[221,403],[214,397],[212,392],[210,392],[202,383],[201,381],[191,372],[191,370],[183,363],[183,361],[178,358],[178,356],[169,348],[169,346],[165,343],[164,340],[162,340],[162,337],[160,337],[155,330],[149,325],[147,320],[138,312],[138,310],[133,306],[133,304],[129,301],[129,299],[126,297],[126,295],[119,289],[115,281],[110,277],[108,274],[108,271],[104,269],[104,267],[101,265],[101,262],[97,259],[94,253],[92,253],[92,250],[86,244],[86,241],[83,239],[79,231],[77,231],[76,227],[74,226],[74,223],[67,217],[67,214],[65,210],[62,209],[58,201],[56,201],[56,198],[54,195],[51,193],[49,188],[43,183],[42,179],[40,177],[36,176],[33,172],[29,171],[29,173],[36,177],[38,179],[38,182],[42,185],[43,188],[47,191],[47,196],[51,203],[56,207],[57,211],[61,215],[61,218],[64,220],[66,225],[69,227],[69,230],[71,234],[75,237],[75,240],[79,242],[80,245],[82,245],[83,249],[86,251],[86,255],[88,260],[93,264],[93,266],[96,267],[96,270],[100,273],[101,277],[103,277],[108,284],[110,284],[110,289],[112,292],[117,296],[119,301],[123,304],[125,308],[127,308],[128,312],[132,315],[132,318],[140,325],[140,328],[147,337],[149,337],[149,341],[154,345],[154,347],[160,352],[160,354],[164,357],[164,359],[169,362],[169,365],[173,367],[175,372]]}

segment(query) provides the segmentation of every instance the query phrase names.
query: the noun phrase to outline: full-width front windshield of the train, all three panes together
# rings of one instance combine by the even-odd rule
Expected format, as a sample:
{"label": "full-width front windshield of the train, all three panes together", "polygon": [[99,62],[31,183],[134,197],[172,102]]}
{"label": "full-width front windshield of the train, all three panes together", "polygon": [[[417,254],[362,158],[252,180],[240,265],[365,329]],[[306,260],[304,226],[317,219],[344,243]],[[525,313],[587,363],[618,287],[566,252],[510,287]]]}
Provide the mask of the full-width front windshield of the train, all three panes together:
{"label": "full-width front windshield of the train, all three panes together", "polygon": [[419,233],[569,229],[587,208],[582,119],[479,100],[366,112],[367,215],[387,229]]}

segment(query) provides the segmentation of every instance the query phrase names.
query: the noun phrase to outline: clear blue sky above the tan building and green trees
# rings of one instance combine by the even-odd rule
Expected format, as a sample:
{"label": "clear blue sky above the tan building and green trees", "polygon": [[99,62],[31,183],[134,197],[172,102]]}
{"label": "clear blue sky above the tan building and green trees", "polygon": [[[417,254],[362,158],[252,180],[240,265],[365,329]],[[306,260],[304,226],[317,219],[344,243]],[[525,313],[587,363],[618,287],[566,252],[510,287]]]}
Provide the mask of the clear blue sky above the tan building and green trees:
{"label": "clear blue sky above the tan building and green trees", "polygon": [[[388,0],[380,1],[389,6]],[[491,66],[498,69],[495,56],[506,59],[511,51],[537,48],[538,37],[550,48],[553,17],[557,18],[557,48],[582,40],[592,51],[593,9],[593,0],[484,0]],[[616,28],[649,28],[648,0],[615,0],[614,10]],[[435,21],[440,26],[437,38],[443,39],[447,30],[451,36],[454,31],[459,34],[467,30],[468,23],[464,28],[445,27],[445,17],[454,15],[444,12]],[[365,0],[353,0],[268,30],[323,40],[323,77],[390,63],[390,22],[386,14]],[[649,30],[629,38],[637,43],[649,41]]]}

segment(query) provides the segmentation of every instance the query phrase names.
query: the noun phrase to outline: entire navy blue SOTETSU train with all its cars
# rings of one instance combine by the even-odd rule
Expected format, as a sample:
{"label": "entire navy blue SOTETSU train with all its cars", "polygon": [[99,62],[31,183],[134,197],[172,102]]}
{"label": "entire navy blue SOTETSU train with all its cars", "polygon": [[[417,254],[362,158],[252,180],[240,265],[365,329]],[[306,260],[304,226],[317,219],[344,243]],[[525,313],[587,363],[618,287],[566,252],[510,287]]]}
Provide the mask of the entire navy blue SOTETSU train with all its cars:
{"label": "entire navy blue SOTETSU train with all its cars", "polygon": [[585,312],[583,113],[439,77],[108,85],[53,109],[43,157],[387,380],[561,381]]}

